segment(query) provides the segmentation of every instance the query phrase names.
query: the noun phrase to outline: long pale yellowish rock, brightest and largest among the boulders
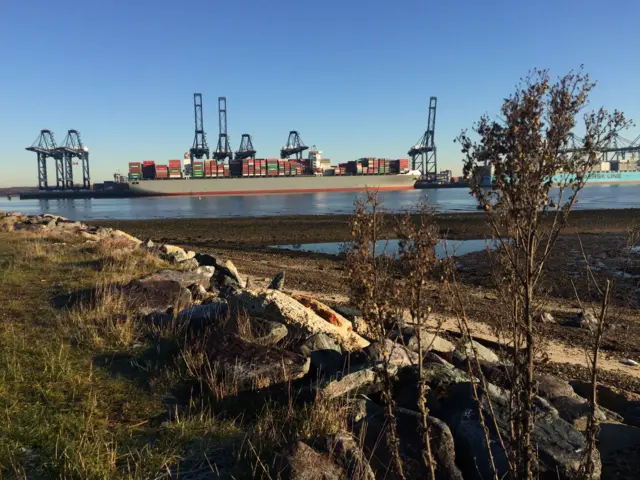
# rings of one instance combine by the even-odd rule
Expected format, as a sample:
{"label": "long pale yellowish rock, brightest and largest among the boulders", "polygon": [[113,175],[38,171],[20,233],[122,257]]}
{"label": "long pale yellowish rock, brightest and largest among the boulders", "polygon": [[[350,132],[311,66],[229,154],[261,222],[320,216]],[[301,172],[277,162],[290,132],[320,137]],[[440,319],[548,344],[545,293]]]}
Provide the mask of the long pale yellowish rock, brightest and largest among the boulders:
{"label": "long pale yellowish rock, brightest and largest among the boulders", "polygon": [[287,325],[298,336],[308,338],[325,333],[346,351],[365,348],[369,342],[351,329],[344,320],[335,325],[318,316],[313,310],[278,290],[241,290],[228,295],[230,305],[254,317],[266,318]]}

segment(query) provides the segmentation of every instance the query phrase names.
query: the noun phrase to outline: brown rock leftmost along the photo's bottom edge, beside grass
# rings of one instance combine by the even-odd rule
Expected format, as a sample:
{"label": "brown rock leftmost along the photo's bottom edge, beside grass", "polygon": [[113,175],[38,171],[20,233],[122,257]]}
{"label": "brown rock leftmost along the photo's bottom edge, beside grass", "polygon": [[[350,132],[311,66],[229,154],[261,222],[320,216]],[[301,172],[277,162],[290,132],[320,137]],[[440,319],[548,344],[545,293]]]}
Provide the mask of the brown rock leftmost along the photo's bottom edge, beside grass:
{"label": "brown rock leftmost along the photo's bottom edge, beside grass", "polygon": [[297,442],[280,462],[274,478],[282,480],[347,480],[345,471],[326,454]]}

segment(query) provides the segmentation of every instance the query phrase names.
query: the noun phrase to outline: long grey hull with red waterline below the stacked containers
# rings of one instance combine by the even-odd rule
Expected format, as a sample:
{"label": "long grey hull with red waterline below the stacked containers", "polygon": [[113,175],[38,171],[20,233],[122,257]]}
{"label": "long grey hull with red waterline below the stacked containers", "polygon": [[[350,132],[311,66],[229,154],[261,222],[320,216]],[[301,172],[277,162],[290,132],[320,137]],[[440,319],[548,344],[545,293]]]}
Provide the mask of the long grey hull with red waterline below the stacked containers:
{"label": "long grey hull with red waterline below the stacked containers", "polygon": [[284,193],[412,190],[414,175],[241,177],[142,180],[130,183],[133,196],[266,195]]}

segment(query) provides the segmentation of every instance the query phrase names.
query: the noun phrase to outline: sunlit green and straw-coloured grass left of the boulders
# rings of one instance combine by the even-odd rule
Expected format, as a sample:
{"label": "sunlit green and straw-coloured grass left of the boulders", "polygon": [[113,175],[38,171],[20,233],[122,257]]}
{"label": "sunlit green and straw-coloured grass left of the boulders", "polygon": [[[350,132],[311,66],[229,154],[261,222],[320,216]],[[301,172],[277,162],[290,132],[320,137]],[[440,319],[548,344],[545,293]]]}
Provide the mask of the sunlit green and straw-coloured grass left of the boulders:
{"label": "sunlit green and straw-coloured grass left of the boulders", "polygon": [[[290,397],[214,414],[237,389],[113,288],[168,267],[120,240],[0,233],[0,478],[261,476],[289,440],[342,428],[344,405]],[[72,292],[91,295],[55,306]]]}

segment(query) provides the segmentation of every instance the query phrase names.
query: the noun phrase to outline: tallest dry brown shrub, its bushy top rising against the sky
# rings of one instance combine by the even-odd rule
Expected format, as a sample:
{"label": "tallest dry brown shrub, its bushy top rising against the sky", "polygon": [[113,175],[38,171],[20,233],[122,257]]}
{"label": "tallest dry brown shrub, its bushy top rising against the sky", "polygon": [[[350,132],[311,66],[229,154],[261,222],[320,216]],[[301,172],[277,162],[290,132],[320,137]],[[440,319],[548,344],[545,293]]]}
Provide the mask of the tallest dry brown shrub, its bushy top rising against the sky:
{"label": "tallest dry brown shrub, its bushy top rising against the sky", "polygon": [[[599,162],[599,150],[629,124],[618,111],[608,113],[601,108],[587,113],[581,125],[583,147],[578,151],[569,148],[578,115],[594,86],[582,71],[570,72],[555,83],[548,71],[533,71],[504,101],[501,120],[480,119],[474,127],[479,141],[466,132],[458,138],[465,155],[464,174],[499,242],[499,289],[509,304],[505,336],[512,339],[514,352],[510,453],[516,478],[536,474],[531,435],[539,342],[533,316],[545,262],[578,193]],[[494,169],[490,189],[480,181],[487,164]],[[561,172],[563,176],[554,180]],[[548,225],[542,221],[545,215],[552,217]]]}

